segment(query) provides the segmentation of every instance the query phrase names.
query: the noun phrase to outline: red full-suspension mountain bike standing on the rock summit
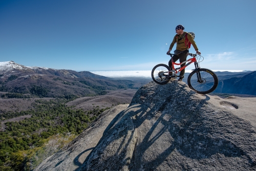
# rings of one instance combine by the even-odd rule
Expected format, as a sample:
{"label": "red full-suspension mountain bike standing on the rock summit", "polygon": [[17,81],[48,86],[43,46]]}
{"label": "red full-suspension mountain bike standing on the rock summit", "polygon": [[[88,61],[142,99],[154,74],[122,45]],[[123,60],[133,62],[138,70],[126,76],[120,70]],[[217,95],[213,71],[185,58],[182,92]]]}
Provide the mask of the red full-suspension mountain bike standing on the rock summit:
{"label": "red full-suspension mountain bike standing on the rock summit", "polygon": [[[189,66],[191,63],[194,62],[195,69],[188,75],[188,78],[187,78],[188,87],[199,94],[208,94],[213,92],[217,88],[219,83],[217,75],[209,69],[200,68],[199,62],[203,61],[203,56],[198,54],[187,53],[187,55],[192,56],[192,58],[182,63],[175,63],[173,61],[174,54],[171,54],[171,53],[166,53],[166,54],[172,57],[172,63],[173,63],[172,70],[167,65],[162,63],[156,65],[151,72],[152,79],[156,83],[166,84],[172,79],[176,79],[177,77],[183,77],[183,76],[178,76],[177,73],[184,70],[187,66]],[[197,59],[198,59],[197,55],[200,56],[198,62],[197,62]],[[201,58],[202,60],[200,61]],[[188,62],[188,63],[184,67],[174,68],[174,65],[182,65],[185,62]]]}

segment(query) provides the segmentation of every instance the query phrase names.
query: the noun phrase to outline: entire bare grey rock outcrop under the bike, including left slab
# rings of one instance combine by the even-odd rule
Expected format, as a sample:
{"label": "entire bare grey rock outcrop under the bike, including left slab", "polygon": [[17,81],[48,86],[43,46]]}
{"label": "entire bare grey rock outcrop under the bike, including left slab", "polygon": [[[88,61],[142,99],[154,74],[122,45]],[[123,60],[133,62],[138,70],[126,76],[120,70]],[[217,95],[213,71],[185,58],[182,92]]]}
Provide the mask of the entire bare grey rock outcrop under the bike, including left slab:
{"label": "entire bare grey rock outcrop under the bike, including left slab", "polygon": [[35,170],[255,170],[255,104],[150,82]]}

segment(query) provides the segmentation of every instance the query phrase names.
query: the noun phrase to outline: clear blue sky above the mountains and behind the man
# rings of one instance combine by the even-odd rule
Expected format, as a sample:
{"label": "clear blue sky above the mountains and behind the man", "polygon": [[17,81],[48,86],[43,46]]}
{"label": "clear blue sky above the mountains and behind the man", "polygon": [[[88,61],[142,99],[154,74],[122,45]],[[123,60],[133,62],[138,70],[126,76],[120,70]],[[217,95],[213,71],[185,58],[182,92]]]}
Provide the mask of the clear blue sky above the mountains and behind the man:
{"label": "clear blue sky above the mountains and behind the man", "polygon": [[76,71],[151,70],[168,63],[166,52],[182,24],[196,34],[202,68],[256,70],[255,7],[255,0],[2,0],[0,61]]}

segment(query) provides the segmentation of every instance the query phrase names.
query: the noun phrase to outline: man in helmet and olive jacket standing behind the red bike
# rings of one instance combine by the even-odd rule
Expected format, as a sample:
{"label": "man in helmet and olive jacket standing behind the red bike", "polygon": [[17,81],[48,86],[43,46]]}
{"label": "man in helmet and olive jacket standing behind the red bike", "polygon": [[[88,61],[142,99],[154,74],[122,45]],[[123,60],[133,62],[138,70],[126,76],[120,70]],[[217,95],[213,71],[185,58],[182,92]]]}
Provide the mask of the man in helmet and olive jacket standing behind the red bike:
{"label": "man in helmet and olive jacket standing behind the red bike", "polygon": [[[176,50],[174,51],[174,56],[173,56],[173,60],[174,62],[176,62],[178,59],[180,59],[180,63],[184,62],[185,60],[187,60],[187,53],[188,53],[188,43],[185,42],[185,35],[187,32],[184,32],[185,28],[182,25],[178,25],[175,30],[176,30],[176,35],[174,36],[173,42],[172,44],[170,44],[169,47],[169,51],[167,53],[170,53],[170,51],[173,49],[174,44],[176,43]],[[197,54],[201,54],[201,52],[198,51],[196,42],[194,41],[194,38],[191,34],[187,34],[187,39],[188,41],[193,45],[193,47],[195,48]],[[172,59],[169,60],[168,63],[170,69],[172,69]],[[183,63],[182,65],[180,65],[180,67],[184,67],[186,65],[186,63]],[[185,69],[183,69],[180,72],[180,78],[179,81],[182,81],[182,79],[184,78],[184,74],[185,74]]]}

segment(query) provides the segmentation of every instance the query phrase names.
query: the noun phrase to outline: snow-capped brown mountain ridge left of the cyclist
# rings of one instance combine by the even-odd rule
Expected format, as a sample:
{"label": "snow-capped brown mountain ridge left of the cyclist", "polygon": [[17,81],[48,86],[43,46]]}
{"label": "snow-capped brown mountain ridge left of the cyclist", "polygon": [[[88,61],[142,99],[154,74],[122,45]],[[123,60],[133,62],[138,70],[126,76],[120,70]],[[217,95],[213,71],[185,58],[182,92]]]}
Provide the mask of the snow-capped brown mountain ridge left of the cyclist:
{"label": "snow-capped brown mountain ridge left of the cyclist", "polygon": [[102,95],[106,90],[133,86],[131,80],[114,80],[88,71],[25,67],[14,61],[0,62],[2,98],[74,98]]}

